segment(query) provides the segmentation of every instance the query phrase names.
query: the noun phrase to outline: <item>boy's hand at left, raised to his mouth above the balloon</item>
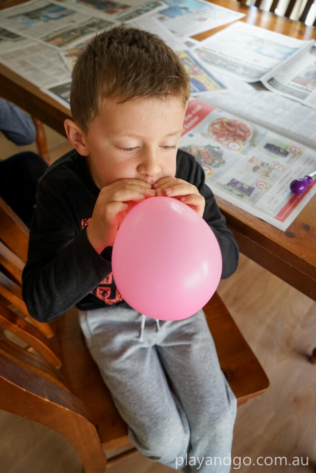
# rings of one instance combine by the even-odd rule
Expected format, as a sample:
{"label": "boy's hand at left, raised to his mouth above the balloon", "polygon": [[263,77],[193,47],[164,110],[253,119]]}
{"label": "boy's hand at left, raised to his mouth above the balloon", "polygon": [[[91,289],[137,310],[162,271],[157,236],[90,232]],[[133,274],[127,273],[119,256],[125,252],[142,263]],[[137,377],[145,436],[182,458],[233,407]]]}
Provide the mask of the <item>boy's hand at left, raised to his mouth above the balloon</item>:
{"label": "boy's hand at left, raised to his mouth above the balloon", "polygon": [[140,179],[121,179],[103,187],[96,200],[87,237],[100,254],[114,243],[117,229],[133,202],[154,195],[151,185]]}

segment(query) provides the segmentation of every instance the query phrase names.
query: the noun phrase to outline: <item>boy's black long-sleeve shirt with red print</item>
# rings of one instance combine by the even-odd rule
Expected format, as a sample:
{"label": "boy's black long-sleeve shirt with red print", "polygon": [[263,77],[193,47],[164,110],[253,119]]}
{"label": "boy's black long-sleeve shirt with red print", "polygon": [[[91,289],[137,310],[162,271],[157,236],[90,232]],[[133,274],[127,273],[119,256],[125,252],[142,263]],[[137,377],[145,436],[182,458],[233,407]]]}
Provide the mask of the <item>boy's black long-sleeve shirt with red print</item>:
{"label": "boy's black long-sleeve shirt with red print", "polygon": [[[178,150],[176,177],[194,184],[204,196],[203,218],[218,240],[222,278],[227,278],[237,268],[238,246],[205,184],[202,167],[193,156]],[[50,166],[39,181],[23,271],[23,297],[39,321],[53,320],[73,305],[82,310],[126,305],[112,277],[112,247],[99,255],[87,238],[86,226],[99,192],[86,158],[75,150]]]}

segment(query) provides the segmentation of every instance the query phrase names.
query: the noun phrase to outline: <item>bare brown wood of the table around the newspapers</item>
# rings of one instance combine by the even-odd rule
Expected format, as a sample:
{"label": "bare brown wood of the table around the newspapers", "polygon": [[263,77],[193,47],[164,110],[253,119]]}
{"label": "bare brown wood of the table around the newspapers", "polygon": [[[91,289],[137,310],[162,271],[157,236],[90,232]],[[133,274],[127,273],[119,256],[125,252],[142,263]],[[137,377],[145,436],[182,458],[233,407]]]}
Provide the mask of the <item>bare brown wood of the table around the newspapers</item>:
{"label": "bare brown wood of the table around the newspapers", "polygon": [[[298,21],[262,12],[256,7],[246,7],[234,0],[213,0],[213,3],[245,13],[242,21],[250,25],[294,38],[316,39],[316,28],[305,27]],[[222,28],[225,26],[195,38],[201,40]],[[70,111],[1,64],[0,93],[65,135],[63,122],[70,116]],[[217,202],[234,232],[240,251],[316,301],[316,195],[285,232],[220,197],[217,197]]]}

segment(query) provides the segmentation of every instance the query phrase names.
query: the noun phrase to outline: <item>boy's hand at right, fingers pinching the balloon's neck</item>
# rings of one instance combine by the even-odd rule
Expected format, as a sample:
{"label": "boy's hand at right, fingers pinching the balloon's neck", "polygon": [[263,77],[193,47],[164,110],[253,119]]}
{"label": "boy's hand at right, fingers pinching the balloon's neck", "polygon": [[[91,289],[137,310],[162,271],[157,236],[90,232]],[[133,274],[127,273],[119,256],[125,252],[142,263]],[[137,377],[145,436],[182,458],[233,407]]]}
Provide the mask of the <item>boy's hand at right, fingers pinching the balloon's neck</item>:
{"label": "boy's hand at right, fingers pinching the balloon's neck", "polygon": [[201,217],[203,216],[205,199],[193,184],[183,179],[176,179],[175,177],[169,176],[156,181],[152,188],[155,189],[156,195],[175,197],[189,205],[189,207],[195,210]]}

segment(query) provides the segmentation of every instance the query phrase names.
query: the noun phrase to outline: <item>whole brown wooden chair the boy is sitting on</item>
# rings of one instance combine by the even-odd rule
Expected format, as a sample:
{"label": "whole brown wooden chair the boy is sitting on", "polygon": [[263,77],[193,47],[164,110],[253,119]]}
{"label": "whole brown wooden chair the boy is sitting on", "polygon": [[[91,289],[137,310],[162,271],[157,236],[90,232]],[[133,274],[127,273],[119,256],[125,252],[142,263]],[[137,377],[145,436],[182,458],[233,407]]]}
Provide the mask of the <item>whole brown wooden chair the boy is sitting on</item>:
{"label": "whole brown wooden chair the boy is sitting on", "polygon": [[[103,473],[137,453],[132,448],[109,460],[104,453],[130,445],[127,426],[86,348],[75,308],[48,324],[28,315],[21,296],[28,228],[1,200],[0,238],[0,409],[60,432],[76,448],[86,473]],[[204,309],[238,404],[264,393],[268,378],[220,297],[215,294]],[[9,339],[9,331],[26,347]]]}

